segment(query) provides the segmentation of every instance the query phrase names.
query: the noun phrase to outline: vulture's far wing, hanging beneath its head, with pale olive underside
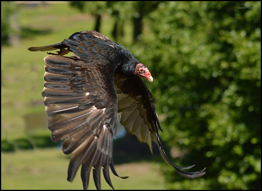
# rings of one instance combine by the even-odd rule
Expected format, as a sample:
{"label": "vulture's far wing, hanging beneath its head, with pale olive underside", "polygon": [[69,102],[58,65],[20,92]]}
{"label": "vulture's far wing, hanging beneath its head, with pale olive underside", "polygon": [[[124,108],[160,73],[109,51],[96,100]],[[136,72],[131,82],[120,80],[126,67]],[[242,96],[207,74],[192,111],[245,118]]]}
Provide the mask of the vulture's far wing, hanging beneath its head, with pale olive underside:
{"label": "vulture's far wing, hanging beneath its head, with pale olive underside", "polygon": [[188,178],[204,175],[205,169],[197,172],[183,171],[192,168],[194,165],[188,167],[177,166],[167,158],[158,134],[158,128],[160,130],[161,128],[153,98],[143,80],[138,76],[126,78],[115,73],[114,81],[118,97],[119,121],[125,126],[126,131],[129,134],[136,135],[139,141],[147,143],[151,153],[152,140],[155,141],[158,144],[162,158],[168,164],[171,164],[180,175]]}

